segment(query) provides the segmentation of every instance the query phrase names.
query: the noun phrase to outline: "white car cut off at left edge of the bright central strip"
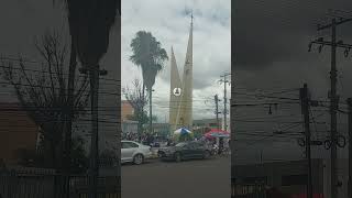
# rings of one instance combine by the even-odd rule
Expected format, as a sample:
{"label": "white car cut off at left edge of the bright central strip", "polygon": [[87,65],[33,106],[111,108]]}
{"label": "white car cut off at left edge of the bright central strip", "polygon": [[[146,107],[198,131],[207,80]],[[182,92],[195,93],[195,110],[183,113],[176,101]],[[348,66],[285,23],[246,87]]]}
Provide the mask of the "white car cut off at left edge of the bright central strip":
{"label": "white car cut off at left edge of the bright central strip", "polygon": [[152,157],[152,147],[134,141],[121,141],[121,163],[143,164]]}

